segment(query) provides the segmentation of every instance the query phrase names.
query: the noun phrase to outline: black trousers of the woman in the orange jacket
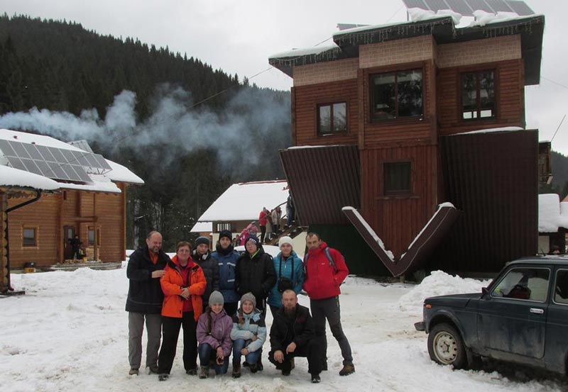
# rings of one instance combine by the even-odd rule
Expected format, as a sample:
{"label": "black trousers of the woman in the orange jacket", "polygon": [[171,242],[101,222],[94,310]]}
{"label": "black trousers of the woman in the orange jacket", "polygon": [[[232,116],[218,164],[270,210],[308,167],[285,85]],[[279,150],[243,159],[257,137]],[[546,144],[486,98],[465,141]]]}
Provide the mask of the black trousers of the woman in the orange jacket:
{"label": "black trousers of the woman in the orange jacket", "polygon": [[158,373],[170,374],[178,346],[180,327],[183,327],[183,367],[197,369],[197,323],[193,312],[184,312],[182,318],[162,317],[162,347],[158,356]]}

